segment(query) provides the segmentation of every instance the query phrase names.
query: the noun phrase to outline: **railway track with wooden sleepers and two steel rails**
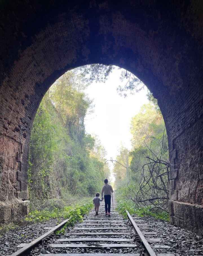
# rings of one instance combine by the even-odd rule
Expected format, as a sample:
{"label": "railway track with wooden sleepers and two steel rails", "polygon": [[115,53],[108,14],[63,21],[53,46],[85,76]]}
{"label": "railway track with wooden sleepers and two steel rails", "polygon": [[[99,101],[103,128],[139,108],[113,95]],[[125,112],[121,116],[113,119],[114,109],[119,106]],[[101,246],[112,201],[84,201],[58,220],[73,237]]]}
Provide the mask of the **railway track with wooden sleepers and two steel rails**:
{"label": "railway track with wooden sleepers and two steel rails", "polygon": [[[142,219],[133,219],[127,211],[128,220],[124,220],[116,210],[112,209],[110,217],[104,216],[104,212],[102,202],[99,216],[95,216],[92,210],[82,223],[75,225],[65,235],[52,235],[47,238],[53,234],[53,229],[59,229],[67,220],[60,227],[47,227],[50,230],[45,235],[30,244],[20,244],[21,248],[12,256],[104,256],[106,253],[110,256],[175,256],[173,253],[155,253],[154,248],[166,249],[167,246],[160,244],[159,238],[151,238],[155,232]],[[149,243],[153,243],[153,246]],[[37,246],[40,246],[41,251],[43,248],[43,253],[37,254]]]}

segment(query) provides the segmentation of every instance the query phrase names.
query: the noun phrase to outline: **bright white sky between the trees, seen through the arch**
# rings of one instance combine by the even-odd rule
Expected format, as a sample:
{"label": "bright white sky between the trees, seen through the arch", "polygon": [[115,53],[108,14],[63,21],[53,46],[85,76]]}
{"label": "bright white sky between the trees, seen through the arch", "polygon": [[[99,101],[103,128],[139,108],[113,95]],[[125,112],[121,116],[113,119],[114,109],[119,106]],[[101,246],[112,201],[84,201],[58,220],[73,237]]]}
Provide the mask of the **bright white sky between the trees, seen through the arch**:
{"label": "bright white sky between the trees, seen through the arch", "polygon": [[[120,73],[121,70],[115,68],[105,83],[92,83],[85,90],[95,104],[94,113],[85,118],[85,129],[87,133],[98,135],[107,151],[107,159],[116,159],[121,144],[131,149],[131,119],[148,102],[146,87],[126,98],[117,93],[116,88],[121,85]],[[125,79],[123,84],[126,82]]]}

